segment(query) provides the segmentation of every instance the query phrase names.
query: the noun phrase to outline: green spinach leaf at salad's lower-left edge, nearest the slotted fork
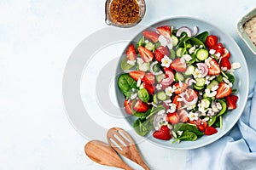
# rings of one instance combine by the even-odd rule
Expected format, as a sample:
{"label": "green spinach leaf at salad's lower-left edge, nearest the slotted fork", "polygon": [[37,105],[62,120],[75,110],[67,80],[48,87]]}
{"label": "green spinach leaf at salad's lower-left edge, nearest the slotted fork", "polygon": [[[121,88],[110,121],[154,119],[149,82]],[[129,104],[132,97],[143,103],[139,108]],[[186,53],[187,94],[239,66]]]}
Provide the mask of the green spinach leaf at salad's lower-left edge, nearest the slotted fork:
{"label": "green spinach leaf at salad's lower-left edge, nearest the slotted fork", "polygon": [[140,118],[138,118],[134,122],[133,127],[137,134],[139,134],[141,136],[145,136],[148,132],[150,132],[152,130],[153,123],[151,122],[150,119],[143,122]]}

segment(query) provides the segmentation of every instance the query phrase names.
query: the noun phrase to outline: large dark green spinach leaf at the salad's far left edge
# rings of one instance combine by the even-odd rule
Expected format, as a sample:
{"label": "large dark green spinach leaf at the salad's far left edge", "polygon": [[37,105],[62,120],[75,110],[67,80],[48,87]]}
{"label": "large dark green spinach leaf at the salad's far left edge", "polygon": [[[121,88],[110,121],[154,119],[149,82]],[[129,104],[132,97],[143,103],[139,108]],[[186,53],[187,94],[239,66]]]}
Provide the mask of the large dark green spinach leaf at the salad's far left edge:
{"label": "large dark green spinach leaf at the salad's far left edge", "polygon": [[131,89],[137,88],[137,82],[133,80],[128,73],[122,74],[118,79],[119,89],[125,94],[125,96],[131,95]]}

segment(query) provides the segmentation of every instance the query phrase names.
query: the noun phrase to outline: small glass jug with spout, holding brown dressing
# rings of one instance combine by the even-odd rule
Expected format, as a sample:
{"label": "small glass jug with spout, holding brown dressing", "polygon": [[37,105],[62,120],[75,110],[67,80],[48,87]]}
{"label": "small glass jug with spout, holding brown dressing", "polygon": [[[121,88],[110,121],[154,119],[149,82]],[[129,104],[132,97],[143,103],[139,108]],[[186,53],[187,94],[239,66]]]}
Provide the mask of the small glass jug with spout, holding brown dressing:
{"label": "small glass jug with spout, holding brown dressing", "polygon": [[108,25],[127,28],[143,20],[146,6],[144,0],[107,0],[105,10]]}

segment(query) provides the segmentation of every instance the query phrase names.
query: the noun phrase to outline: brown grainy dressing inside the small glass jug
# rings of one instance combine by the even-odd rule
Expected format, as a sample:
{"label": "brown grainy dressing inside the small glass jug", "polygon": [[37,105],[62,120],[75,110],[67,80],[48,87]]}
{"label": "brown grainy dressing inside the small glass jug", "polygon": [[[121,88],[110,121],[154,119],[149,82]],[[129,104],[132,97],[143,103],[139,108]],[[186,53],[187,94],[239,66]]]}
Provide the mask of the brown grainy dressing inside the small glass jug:
{"label": "brown grainy dressing inside the small glass jug", "polygon": [[110,13],[115,22],[134,23],[139,16],[139,5],[137,0],[113,0],[110,5]]}

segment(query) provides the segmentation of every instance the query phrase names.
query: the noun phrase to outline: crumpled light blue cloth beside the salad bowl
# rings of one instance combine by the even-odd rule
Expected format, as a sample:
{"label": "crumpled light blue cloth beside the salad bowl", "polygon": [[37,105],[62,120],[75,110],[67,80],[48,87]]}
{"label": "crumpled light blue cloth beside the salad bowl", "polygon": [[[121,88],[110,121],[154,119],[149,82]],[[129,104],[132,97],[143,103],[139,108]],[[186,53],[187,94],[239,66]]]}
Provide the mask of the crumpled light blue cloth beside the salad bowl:
{"label": "crumpled light blue cloth beside the salad bowl", "polygon": [[189,150],[186,163],[188,170],[256,170],[256,84],[230,133],[205,147]]}

